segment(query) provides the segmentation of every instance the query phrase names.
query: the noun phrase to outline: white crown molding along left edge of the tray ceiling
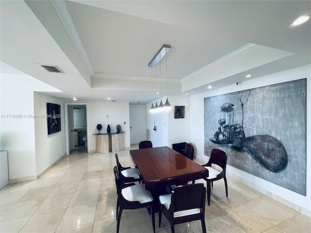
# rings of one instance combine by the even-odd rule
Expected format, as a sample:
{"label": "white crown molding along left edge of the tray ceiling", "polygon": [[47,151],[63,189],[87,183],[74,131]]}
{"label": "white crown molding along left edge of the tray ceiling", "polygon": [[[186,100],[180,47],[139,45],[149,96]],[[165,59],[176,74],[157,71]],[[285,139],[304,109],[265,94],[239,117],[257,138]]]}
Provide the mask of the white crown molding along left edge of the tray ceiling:
{"label": "white crown molding along left edge of the tray ceiling", "polygon": [[86,66],[86,69],[91,76],[94,73],[93,67],[91,66],[91,63],[88,59],[88,56],[86,54],[86,50],[84,49],[82,40],[80,38],[80,35],[77,31],[76,26],[73,23],[72,17],[70,16],[68,7],[64,0],[57,0],[57,1],[51,1],[52,5],[62,21],[67,33],[69,34],[69,37],[75,46],[75,48],[78,50],[78,53],[83,61],[83,63]]}

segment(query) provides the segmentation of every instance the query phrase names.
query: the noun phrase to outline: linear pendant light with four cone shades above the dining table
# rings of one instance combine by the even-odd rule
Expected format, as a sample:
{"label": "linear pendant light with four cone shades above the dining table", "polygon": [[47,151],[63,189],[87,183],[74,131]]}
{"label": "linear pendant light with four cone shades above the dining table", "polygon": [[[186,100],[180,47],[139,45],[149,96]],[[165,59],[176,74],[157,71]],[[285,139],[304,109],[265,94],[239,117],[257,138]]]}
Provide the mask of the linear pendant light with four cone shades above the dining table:
{"label": "linear pendant light with four cone shades above the dining table", "polygon": [[[166,53],[171,49],[170,45],[163,45],[161,49],[155,54],[153,59],[148,64],[148,67],[155,67],[155,84],[156,84],[156,64],[166,55]],[[166,64],[166,92],[167,92],[167,59],[165,56],[165,64]],[[153,79],[152,79],[153,82]],[[161,84],[161,63],[160,63],[160,84]],[[162,98],[162,84],[161,84],[161,98]],[[155,106],[153,107],[153,103],[150,108],[150,112],[163,112],[171,110],[171,104],[169,103],[168,98],[166,98],[165,104],[163,104],[162,99],[160,104],[157,105],[157,101],[155,102]]]}

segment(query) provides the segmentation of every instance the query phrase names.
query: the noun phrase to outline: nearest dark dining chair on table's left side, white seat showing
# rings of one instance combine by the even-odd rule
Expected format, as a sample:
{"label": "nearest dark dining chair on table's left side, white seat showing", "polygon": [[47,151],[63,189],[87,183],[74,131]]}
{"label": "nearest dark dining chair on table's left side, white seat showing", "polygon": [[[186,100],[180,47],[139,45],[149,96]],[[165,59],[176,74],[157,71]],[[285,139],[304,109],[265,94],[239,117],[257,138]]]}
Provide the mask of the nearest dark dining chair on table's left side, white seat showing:
{"label": "nearest dark dining chair on table's left side, white seat showing", "polygon": [[123,210],[133,210],[144,207],[151,207],[152,226],[155,233],[155,204],[151,192],[146,190],[145,185],[142,183],[138,184],[122,183],[117,166],[114,166],[113,172],[115,174],[115,181],[118,194],[117,215],[116,215],[117,233],[119,233],[120,220]]}

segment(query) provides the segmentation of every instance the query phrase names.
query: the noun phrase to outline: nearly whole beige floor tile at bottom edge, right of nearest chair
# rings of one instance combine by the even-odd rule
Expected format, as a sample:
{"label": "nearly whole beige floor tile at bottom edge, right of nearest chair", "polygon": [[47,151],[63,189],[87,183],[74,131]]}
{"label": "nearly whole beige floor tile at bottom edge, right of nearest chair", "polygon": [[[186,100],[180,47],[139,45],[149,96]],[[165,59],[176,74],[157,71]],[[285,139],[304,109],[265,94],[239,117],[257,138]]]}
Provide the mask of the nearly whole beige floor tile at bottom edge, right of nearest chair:
{"label": "nearly whole beige floor tile at bottom edge, right of nearest chair", "polygon": [[272,222],[260,216],[243,203],[229,207],[223,211],[246,233],[263,232],[275,226]]}

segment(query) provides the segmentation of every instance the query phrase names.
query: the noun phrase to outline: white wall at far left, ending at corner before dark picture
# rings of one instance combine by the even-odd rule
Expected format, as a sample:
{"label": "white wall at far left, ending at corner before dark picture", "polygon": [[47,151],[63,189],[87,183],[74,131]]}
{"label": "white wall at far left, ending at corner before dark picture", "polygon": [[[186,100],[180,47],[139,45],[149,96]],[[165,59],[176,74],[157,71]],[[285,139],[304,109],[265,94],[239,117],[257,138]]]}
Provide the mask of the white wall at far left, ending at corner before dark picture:
{"label": "white wall at far left, ending at corner before dark picture", "polygon": [[0,81],[0,150],[8,150],[10,183],[35,180],[34,91],[58,90],[23,74],[1,74]]}

